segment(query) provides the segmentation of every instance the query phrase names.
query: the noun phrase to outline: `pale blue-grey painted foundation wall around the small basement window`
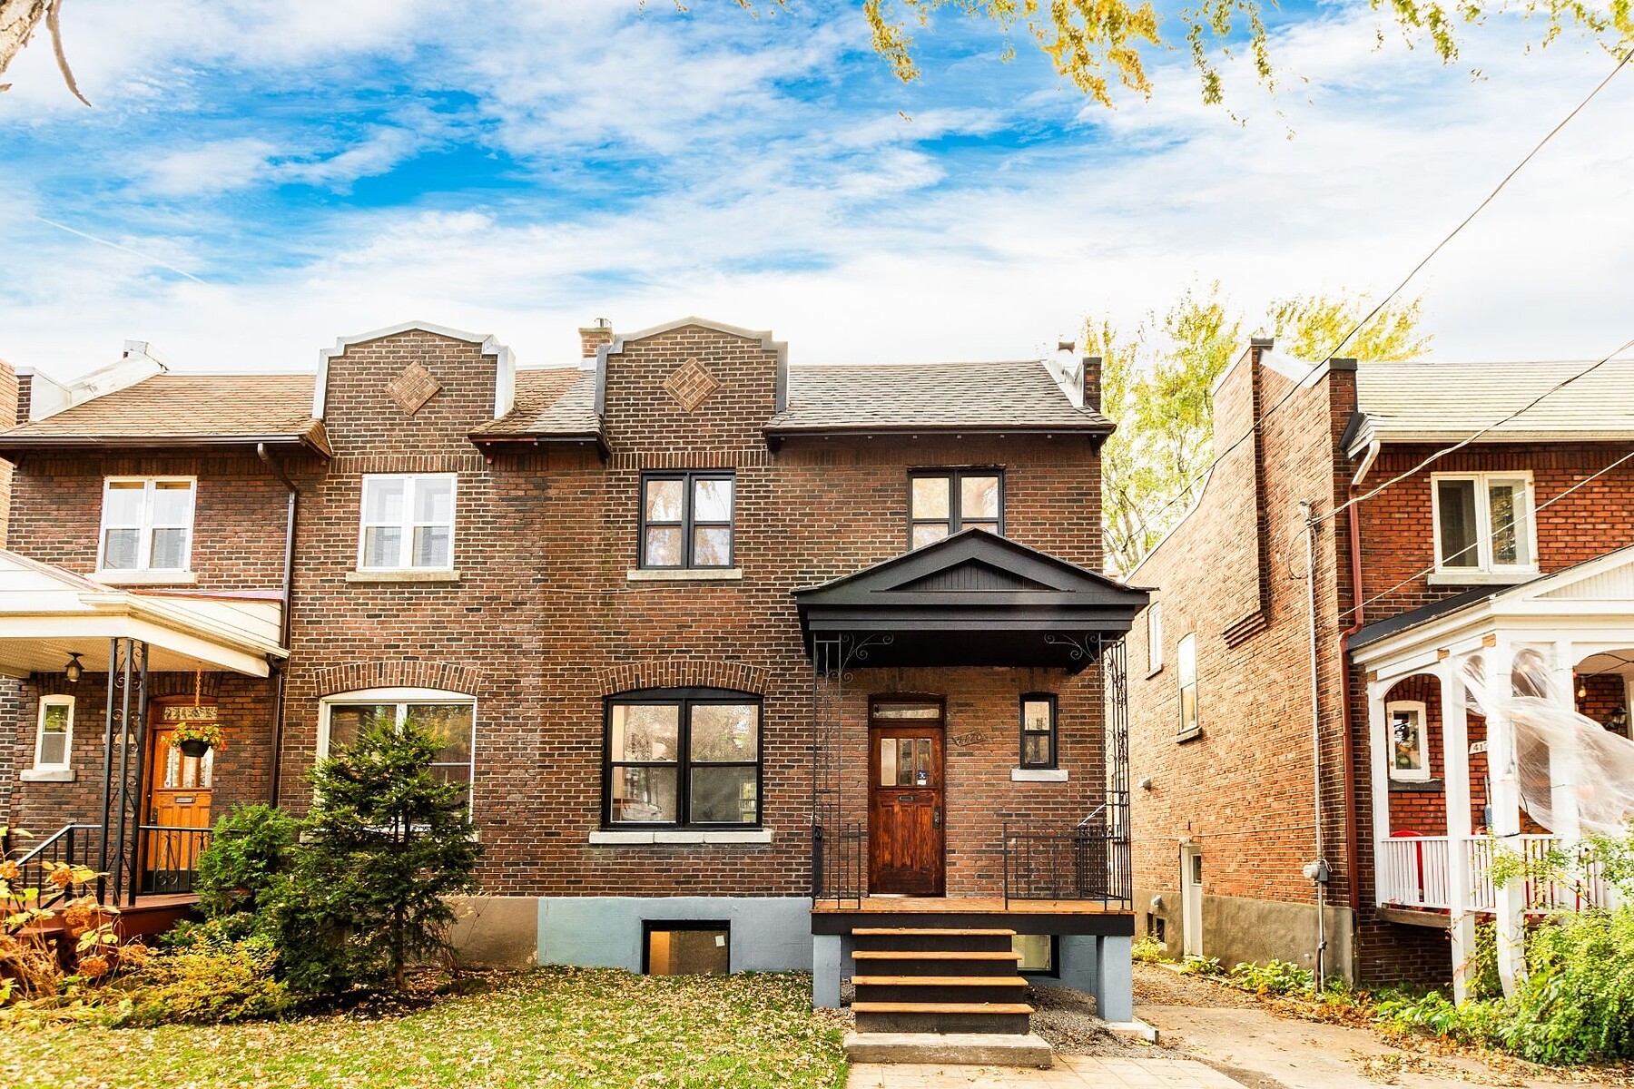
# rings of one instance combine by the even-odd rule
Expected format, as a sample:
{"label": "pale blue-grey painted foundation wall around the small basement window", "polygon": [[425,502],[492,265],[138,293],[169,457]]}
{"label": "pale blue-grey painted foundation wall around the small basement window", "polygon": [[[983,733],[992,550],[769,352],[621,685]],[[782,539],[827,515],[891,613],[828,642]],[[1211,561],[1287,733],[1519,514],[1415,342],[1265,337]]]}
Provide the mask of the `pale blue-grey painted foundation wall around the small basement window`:
{"label": "pale blue-grey painted foundation wall around the small basement window", "polygon": [[810,971],[810,909],[809,896],[542,896],[539,963],[641,971],[644,921],[721,919],[732,971]]}

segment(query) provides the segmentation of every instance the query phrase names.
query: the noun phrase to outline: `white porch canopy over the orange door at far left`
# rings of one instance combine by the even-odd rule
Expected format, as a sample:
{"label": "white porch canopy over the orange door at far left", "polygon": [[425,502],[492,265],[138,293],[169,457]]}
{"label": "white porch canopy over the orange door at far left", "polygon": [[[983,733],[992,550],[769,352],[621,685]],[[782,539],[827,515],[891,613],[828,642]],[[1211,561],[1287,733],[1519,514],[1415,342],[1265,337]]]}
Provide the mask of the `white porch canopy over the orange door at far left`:
{"label": "white porch canopy over the orange door at far left", "polygon": [[230,671],[253,678],[278,645],[283,601],[265,594],[131,591],[0,549],[0,676],[109,668],[109,640],[147,645],[150,671]]}

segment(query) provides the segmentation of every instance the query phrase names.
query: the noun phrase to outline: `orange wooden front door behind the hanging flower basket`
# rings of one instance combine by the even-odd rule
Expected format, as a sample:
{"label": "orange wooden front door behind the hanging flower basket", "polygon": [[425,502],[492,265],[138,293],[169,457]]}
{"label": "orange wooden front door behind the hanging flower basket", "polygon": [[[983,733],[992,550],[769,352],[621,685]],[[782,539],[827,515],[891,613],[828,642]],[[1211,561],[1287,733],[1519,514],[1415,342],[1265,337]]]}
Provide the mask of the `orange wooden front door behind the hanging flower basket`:
{"label": "orange wooden front door behind the hanging flower basket", "polygon": [[[155,715],[157,718],[157,715]],[[147,749],[147,805],[142,823],[142,891],[185,893],[204,849],[204,836],[180,829],[211,826],[216,753],[185,756],[170,745],[173,725],[155,722]]]}

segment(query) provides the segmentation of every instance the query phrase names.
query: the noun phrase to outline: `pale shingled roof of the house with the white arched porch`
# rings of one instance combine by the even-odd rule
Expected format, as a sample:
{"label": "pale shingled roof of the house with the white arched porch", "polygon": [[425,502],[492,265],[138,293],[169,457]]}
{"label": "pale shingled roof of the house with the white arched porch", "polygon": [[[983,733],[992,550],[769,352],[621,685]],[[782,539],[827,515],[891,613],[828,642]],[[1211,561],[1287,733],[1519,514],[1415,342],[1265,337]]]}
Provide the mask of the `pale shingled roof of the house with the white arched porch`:
{"label": "pale shingled roof of the house with the white arched porch", "polygon": [[[1356,398],[1368,438],[1466,438],[1585,371],[1577,362],[1363,362]],[[1626,438],[1634,434],[1634,359],[1611,359],[1536,408],[1489,431],[1489,441]]]}

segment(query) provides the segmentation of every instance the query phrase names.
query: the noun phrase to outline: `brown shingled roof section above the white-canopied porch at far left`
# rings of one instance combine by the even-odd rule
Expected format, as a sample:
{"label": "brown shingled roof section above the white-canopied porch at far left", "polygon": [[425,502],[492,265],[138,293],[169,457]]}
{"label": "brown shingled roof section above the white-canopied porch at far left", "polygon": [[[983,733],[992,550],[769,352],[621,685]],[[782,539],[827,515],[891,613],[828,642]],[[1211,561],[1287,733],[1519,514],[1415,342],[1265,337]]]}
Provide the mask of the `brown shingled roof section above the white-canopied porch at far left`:
{"label": "brown shingled roof section above the white-canopied porch at far left", "polygon": [[310,374],[155,374],[0,431],[0,452],[93,446],[306,446],[328,454]]}

